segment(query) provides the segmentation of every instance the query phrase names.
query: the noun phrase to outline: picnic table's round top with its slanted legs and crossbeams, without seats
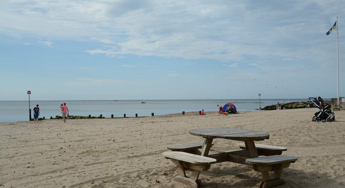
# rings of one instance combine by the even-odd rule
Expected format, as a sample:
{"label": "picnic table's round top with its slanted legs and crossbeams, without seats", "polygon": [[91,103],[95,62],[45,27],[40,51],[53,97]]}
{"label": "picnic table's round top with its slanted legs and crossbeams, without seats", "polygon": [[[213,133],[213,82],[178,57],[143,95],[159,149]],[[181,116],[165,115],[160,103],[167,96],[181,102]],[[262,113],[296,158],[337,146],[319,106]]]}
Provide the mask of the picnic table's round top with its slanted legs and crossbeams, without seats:
{"label": "picnic table's round top with its slanted legs and crossbeams, without seats", "polygon": [[[217,163],[230,161],[249,166],[252,165],[247,163],[246,159],[258,157],[254,141],[269,139],[269,133],[267,132],[242,128],[203,128],[189,130],[189,133],[191,135],[205,138],[203,147],[199,149],[199,155],[217,159]],[[210,148],[212,146],[212,141],[215,138],[243,141],[245,143],[246,150],[238,150],[234,152],[211,151]]]}

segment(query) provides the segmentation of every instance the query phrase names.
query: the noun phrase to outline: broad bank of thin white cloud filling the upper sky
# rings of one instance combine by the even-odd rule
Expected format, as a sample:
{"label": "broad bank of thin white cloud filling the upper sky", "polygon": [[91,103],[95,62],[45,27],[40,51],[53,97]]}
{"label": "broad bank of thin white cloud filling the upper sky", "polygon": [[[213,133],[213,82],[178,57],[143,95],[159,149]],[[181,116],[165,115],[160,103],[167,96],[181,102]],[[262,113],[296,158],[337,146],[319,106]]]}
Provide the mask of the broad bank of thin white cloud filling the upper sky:
{"label": "broad bank of thin white cloud filling the upper sky", "polygon": [[[325,35],[335,21],[330,15],[345,17],[337,11],[344,8],[335,0],[265,6],[252,1],[0,1],[0,17],[6,18],[0,19],[0,34],[97,40],[109,46],[86,52],[111,57],[322,63],[333,59],[336,49],[330,42],[334,34]],[[301,30],[305,25],[308,29]]]}

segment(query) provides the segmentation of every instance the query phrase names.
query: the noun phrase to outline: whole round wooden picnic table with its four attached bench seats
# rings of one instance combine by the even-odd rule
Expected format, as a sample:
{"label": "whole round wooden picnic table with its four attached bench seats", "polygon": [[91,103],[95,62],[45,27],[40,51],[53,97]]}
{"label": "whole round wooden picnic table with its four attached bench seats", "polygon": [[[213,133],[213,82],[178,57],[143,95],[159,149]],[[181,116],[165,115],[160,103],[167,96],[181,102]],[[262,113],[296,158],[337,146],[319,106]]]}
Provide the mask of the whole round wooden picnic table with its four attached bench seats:
{"label": "whole round wooden picnic table with its four attached bench seats", "polygon": [[[226,161],[244,164],[259,171],[263,181],[259,182],[258,187],[273,188],[285,184],[284,180],[280,178],[283,168],[288,168],[298,159],[293,156],[280,155],[282,151],[287,150],[284,147],[262,144],[255,146],[254,141],[269,139],[269,133],[259,130],[203,128],[189,130],[189,133],[205,138],[202,146],[200,142],[168,146],[169,150],[175,150],[175,152],[164,152],[163,156],[177,166],[179,175],[175,177],[176,181],[197,188],[201,186],[201,181],[198,179],[201,171],[208,170],[211,164]],[[210,150],[215,138],[242,141],[244,144],[240,144],[240,148],[244,150],[233,152]],[[260,156],[264,155],[264,157],[258,157],[258,151]],[[190,177],[186,176],[186,168],[193,169]],[[269,171],[274,171],[274,176],[270,177]]]}

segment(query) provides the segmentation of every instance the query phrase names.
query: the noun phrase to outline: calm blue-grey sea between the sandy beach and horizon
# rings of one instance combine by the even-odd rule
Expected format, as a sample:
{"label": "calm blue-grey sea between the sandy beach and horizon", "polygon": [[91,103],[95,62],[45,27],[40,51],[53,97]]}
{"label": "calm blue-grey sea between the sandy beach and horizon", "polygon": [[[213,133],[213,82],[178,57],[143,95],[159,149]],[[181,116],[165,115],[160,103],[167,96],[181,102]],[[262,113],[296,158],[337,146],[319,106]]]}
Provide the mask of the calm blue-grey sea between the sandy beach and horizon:
{"label": "calm blue-grey sea between the sandy beach and horizon", "polygon": [[[307,101],[307,98],[300,99],[262,99],[261,107],[293,101]],[[220,100],[102,100],[102,101],[30,101],[33,117],[33,107],[39,104],[40,116],[50,118],[61,115],[60,104],[66,102],[70,115],[110,117],[133,117],[138,116],[165,115],[173,113],[193,112],[204,109],[205,111],[218,111],[217,104],[223,106],[228,102],[235,104],[237,111],[255,111],[259,108],[258,99],[223,99]],[[28,101],[0,101],[0,122],[27,121],[29,119]]]}

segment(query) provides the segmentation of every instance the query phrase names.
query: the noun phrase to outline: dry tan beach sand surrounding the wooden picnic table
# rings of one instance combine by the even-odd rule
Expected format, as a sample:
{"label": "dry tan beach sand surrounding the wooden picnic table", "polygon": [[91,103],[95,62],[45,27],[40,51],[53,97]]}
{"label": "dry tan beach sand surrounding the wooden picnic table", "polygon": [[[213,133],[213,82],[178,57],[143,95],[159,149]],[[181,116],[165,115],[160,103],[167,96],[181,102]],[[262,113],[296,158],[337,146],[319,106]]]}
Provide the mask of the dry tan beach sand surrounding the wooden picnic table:
{"label": "dry tan beach sand surrounding the wooden picnic table", "polygon": [[[316,123],[315,109],[1,123],[0,185],[182,188],[173,180],[176,167],[161,155],[166,146],[202,140],[190,129],[236,127],[269,132],[270,139],[256,143],[284,146],[283,154],[299,157],[283,170],[287,184],[279,188],[344,188],[345,111],[335,112],[336,122]],[[237,141],[214,142],[212,149],[238,150]],[[226,162],[211,165],[200,179],[205,187],[254,188],[261,175]]]}

